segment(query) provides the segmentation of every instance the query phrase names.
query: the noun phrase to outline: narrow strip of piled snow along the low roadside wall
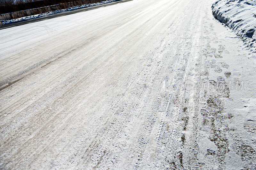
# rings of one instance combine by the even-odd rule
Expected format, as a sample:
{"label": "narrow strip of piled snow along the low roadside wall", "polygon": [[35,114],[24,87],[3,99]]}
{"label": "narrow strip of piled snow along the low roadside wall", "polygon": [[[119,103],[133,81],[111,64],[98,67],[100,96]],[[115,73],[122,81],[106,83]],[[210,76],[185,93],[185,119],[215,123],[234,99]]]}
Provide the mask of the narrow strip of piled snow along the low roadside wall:
{"label": "narrow strip of piled snow along the low roadside wall", "polygon": [[35,19],[35,18],[41,18],[41,17],[53,15],[53,14],[58,14],[58,13],[61,13],[61,12],[78,10],[78,9],[82,9],[82,8],[86,8],[86,7],[90,7],[90,6],[95,6],[95,5],[107,4],[107,3],[111,3],[111,2],[115,2],[115,1],[117,1],[117,0],[107,0],[107,1],[102,1],[102,2],[93,3],[93,4],[84,4],[84,5],[74,6],[74,7],[70,7],[70,8],[67,8],[67,9],[63,9],[63,10],[56,10],[56,11],[50,11],[50,12],[37,14],[37,15],[31,15],[31,16],[28,16],[28,17],[22,17],[22,18],[11,19],[11,20],[4,20],[4,21],[2,21],[2,23],[3,23],[3,25],[13,24],[13,23],[21,22],[21,21],[27,21],[27,20]]}

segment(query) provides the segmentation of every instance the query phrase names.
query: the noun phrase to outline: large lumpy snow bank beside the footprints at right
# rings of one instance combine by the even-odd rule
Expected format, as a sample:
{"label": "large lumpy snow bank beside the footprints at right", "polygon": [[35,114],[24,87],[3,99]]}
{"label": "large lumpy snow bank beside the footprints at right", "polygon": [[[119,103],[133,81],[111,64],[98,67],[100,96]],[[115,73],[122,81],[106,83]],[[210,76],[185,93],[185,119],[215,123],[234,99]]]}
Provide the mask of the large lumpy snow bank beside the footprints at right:
{"label": "large lumpy snow bank beside the footprints at right", "polygon": [[256,1],[219,0],[212,5],[212,14],[243,39],[256,52]]}

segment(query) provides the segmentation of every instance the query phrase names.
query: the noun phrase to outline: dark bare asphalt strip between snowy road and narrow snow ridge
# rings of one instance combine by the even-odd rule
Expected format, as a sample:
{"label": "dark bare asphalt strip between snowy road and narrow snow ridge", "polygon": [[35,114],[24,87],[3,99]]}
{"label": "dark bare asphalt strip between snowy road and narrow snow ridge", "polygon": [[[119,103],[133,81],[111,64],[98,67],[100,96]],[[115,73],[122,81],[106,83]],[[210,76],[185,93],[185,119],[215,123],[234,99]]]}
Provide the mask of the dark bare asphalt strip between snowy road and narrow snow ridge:
{"label": "dark bare asphalt strip between snowy road and narrow snow ridge", "polygon": [[51,18],[65,16],[65,15],[75,14],[77,12],[89,11],[89,10],[93,10],[93,9],[97,9],[97,8],[101,8],[101,7],[105,7],[105,6],[110,6],[110,5],[114,5],[114,4],[124,3],[124,2],[128,2],[128,1],[132,1],[132,0],[117,0],[116,2],[111,2],[111,3],[108,3],[108,4],[95,5],[95,6],[86,7],[86,8],[82,8],[82,9],[78,9],[78,10],[61,12],[61,13],[58,13],[58,14],[53,14],[53,15],[42,17],[42,18],[30,19],[30,20],[27,20],[27,21],[21,21],[21,22],[17,22],[17,23],[13,23],[13,24],[3,25],[3,26],[0,26],[0,30],[6,29],[6,28],[11,28],[11,27],[14,27],[14,26],[29,24],[29,23],[33,23],[33,22],[37,22],[37,21],[43,21],[45,19],[51,19]]}

